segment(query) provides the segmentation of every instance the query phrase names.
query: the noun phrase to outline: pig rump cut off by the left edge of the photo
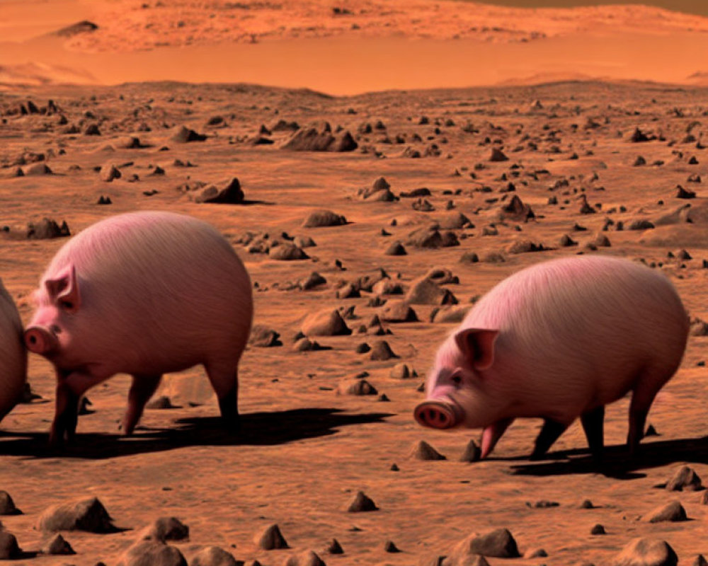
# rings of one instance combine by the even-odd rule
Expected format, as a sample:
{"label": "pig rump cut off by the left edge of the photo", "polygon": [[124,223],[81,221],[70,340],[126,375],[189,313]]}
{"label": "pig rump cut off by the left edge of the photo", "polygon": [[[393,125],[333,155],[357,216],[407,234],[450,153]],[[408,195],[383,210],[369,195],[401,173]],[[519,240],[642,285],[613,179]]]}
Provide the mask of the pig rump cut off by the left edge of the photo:
{"label": "pig rump cut off by the left edge of the photo", "polygon": [[22,340],[22,320],[0,281],[0,420],[22,397],[25,381],[27,350]]}

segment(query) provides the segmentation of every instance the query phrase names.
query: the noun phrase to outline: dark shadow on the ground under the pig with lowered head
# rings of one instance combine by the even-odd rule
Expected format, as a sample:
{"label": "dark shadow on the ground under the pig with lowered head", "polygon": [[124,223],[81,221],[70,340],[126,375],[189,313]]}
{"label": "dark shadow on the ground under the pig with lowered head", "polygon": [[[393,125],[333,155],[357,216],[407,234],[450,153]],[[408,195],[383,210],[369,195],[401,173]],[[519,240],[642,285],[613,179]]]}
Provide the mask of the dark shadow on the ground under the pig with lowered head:
{"label": "dark shadow on the ground under the pig with lowered head", "polygon": [[[524,458],[525,459],[525,458]],[[646,477],[637,470],[667,466],[676,462],[708,464],[708,437],[644,441],[639,453],[629,456],[627,446],[605,446],[601,463],[587,449],[552,452],[544,461],[528,461],[511,466],[513,475],[570,475],[601,473],[607,478],[634,480]]]}

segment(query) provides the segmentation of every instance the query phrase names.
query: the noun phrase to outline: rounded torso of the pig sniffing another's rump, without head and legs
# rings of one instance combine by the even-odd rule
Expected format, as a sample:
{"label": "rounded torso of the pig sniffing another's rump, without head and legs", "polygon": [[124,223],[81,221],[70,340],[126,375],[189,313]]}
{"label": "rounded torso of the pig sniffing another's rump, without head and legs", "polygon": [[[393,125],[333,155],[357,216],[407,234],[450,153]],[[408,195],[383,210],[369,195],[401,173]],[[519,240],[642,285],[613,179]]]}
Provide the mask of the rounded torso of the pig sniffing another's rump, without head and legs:
{"label": "rounded torso of the pig sniffing another's rump, without head and legs", "polygon": [[76,333],[95,340],[97,353],[120,351],[122,371],[147,359],[174,371],[244,349],[251,282],[210,224],[169,212],[113,216],[74,236],[45,278],[69,264],[81,294]]}

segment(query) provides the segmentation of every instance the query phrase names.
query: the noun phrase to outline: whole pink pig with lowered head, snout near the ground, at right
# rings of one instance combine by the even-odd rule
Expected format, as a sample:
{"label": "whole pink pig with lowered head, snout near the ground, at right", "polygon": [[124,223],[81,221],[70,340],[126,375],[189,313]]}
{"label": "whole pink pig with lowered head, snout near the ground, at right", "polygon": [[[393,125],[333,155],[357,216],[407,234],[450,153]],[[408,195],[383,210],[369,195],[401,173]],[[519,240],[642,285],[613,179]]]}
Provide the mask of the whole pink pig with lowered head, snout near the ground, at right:
{"label": "whole pink pig with lowered head, snout near the ground, at right", "polygon": [[632,391],[634,453],[656,393],[681,362],[688,326],[673,285],[639,263],[578,256],[527,267],[491,289],[442,343],[416,420],[484,428],[485,458],[515,418],[540,417],[539,458],[581,417],[600,458],[605,405]]}

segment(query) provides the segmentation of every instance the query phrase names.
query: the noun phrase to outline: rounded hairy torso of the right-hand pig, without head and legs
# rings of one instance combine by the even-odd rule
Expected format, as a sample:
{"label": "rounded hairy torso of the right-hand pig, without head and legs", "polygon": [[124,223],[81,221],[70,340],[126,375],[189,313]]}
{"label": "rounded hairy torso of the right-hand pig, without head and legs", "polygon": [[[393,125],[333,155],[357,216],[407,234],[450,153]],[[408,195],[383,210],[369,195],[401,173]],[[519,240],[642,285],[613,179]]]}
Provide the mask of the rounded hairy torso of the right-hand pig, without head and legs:
{"label": "rounded hairy torso of the right-hand pig, without head and legs", "polygon": [[617,400],[636,379],[661,381],[660,388],[683,357],[688,318],[661,273],[595,256],[508,277],[463,325],[501,330],[490,370],[500,395],[522,411],[553,403],[579,413]]}

